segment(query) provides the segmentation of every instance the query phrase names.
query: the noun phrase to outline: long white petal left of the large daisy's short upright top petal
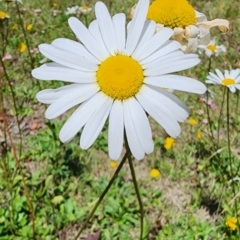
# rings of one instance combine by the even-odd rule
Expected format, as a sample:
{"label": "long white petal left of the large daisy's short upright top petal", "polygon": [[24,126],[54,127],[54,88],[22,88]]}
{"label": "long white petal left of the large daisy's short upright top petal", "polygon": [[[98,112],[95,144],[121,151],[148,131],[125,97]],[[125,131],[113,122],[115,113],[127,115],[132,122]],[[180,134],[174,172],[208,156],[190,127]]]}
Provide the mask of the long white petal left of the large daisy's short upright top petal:
{"label": "long white petal left of the large daisy's short upright top petal", "polygon": [[104,3],[97,2],[95,4],[95,15],[105,46],[110,54],[114,55],[117,51],[117,39],[111,16]]}

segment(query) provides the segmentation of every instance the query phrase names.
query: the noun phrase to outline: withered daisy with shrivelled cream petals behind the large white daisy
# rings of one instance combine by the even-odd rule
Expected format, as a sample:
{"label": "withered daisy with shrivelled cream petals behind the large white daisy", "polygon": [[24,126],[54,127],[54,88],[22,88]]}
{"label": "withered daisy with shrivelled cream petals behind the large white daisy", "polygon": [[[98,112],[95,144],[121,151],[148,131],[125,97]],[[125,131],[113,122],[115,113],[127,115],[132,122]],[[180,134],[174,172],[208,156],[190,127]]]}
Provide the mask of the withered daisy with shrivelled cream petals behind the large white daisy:
{"label": "withered daisy with shrivelled cream petals behind the large white daisy", "polygon": [[[132,8],[132,15],[135,7]],[[207,21],[203,13],[195,11],[187,0],[155,0],[149,6],[147,18],[157,23],[157,31],[163,27],[174,30],[173,38],[181,43],[184,52],[196,52],[198,45],[210,41],[210,29],[218,26],[226,33],[229,22],[224,19]],[[186,43],[187,42],[187,43]]]}

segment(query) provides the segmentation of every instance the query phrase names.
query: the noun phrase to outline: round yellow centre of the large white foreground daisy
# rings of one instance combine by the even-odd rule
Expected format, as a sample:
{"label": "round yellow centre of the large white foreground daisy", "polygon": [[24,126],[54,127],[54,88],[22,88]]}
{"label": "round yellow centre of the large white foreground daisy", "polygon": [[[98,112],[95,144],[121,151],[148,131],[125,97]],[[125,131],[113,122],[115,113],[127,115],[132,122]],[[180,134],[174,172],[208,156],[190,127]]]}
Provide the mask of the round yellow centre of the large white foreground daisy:
{"label": "round yellow centre of the large white foreground daisy", "polygon": [[141,65],[125,55],[111,56],[104,60],[96,73],[97,83],[113,99],[128,99],[140,90],[144,75]]}

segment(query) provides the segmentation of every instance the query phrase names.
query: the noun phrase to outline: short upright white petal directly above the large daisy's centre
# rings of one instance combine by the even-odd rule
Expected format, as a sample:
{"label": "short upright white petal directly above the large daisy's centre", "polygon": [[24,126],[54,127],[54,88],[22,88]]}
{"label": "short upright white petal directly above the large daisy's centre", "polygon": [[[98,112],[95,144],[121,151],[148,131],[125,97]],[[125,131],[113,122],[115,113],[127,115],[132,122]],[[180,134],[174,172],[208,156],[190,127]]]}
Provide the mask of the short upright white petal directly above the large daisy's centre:
{"label": "short upright white petal directly above the large daisy's centre", "polygon": [[118,50],[122,52],[126,43],[126,15],[119,13],[113,16],[113,25],[117,38]]}

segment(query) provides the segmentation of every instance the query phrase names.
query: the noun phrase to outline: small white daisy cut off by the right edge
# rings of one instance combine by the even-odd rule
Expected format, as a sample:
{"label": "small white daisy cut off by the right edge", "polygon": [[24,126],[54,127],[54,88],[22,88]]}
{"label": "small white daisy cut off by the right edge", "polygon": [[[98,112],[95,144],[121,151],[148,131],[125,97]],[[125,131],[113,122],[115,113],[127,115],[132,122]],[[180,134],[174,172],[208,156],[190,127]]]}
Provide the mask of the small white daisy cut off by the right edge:
{"label": "small white daisy cut off by the right edge", "polygon": [[215,69],[215,73],[209,73],[206,83],[221,84],[229,88],[231,92],[236,92],[236,89],[240,90],[240,68],[235,70],[225,70],[222,73],[219,69]]}

